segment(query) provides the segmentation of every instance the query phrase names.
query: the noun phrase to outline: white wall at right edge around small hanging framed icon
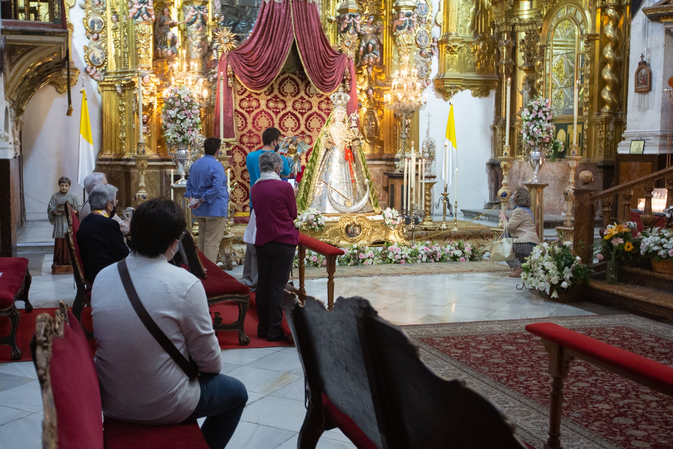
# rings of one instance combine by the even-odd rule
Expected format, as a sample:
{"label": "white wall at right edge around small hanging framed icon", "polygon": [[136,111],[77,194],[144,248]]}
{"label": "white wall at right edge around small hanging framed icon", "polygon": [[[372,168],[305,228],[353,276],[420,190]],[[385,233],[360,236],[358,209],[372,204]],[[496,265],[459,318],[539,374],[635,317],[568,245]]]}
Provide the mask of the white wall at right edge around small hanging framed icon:
{"label": "white wall at right edge around small hanging framed icon", "polygon": [[[651,6],[657,0],[643,1],[643,7]],[[635,92],[635,71],[640,55],[652,71],[652,90],[647,94]],[[666,152],[666,130],[670,109],[668,78],[673,76],[673,34],[662,24],[650,22],[639,9],[631,21],[631,57],[629,59],[629,79],[627,88],[627,129],[623,141],[618,145],[618,153],[629,153],[631,140],[645,140],[645,153]]]}

